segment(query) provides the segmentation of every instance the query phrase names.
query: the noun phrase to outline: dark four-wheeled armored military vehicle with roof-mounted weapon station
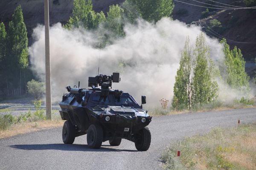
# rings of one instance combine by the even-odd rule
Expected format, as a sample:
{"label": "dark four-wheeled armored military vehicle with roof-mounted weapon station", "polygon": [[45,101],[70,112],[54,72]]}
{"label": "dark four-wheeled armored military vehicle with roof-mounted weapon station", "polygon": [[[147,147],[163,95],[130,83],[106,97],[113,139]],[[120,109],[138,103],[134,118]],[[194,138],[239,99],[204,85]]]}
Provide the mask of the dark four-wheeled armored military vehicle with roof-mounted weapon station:
{"label": "dark four-wheeled armored military vehicle with roof-mounted weapon station", "polygon": [[130,94],[112,89],[112,82],[119,81],[119,73],[100,74],[89,77],[90,89],[66,87],[69,93],[59,103],[61,118],[66,120],[62,129],[64,144],[73,144],[77,136],[87,134],[90,148],[99,148],[105,141],[118,146],[127,139],[135,143],[137,150],[148,150],[151,133],[146,126],[152,117],[143,110],[146,96],[139,105]]}

